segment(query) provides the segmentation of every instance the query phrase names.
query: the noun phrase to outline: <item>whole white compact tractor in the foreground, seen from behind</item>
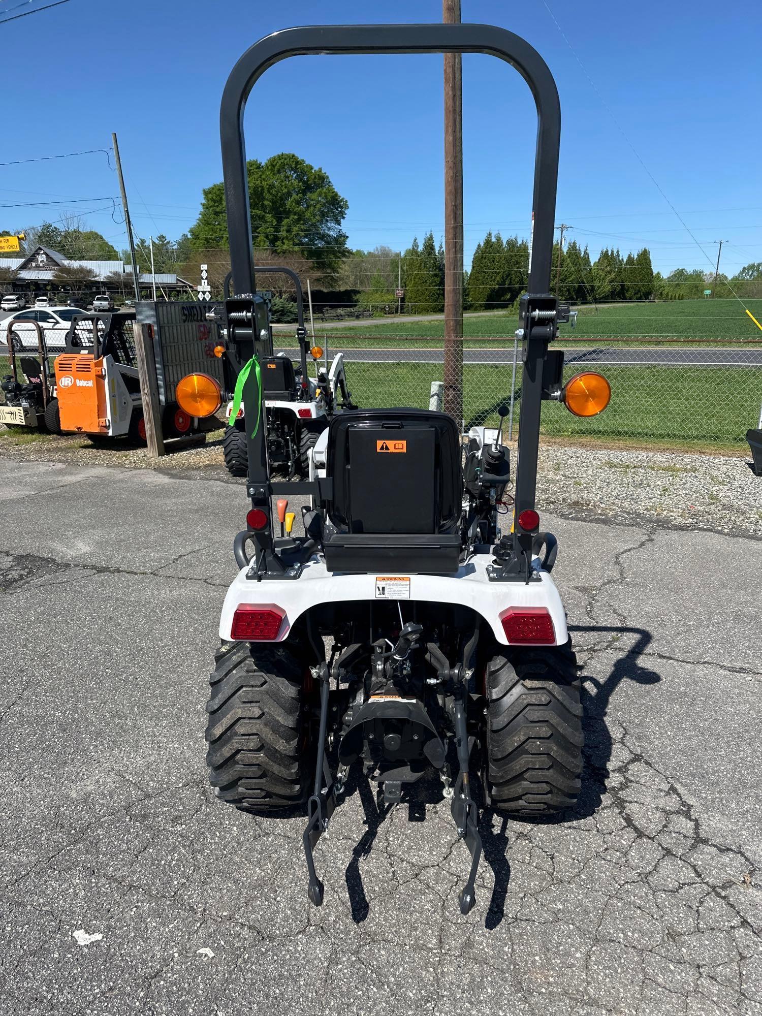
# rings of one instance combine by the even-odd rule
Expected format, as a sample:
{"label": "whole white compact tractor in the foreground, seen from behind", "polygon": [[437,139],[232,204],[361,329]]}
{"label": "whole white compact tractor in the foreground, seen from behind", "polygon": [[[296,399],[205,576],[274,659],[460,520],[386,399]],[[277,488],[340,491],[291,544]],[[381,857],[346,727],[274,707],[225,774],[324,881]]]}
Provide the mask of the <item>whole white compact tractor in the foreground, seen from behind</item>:
{"label": "whole white compact tractor in the foreground, seen from behind", "polygon": [[[367,409],[333,417],[324,467],[312,481],[273,482],[267,390],[256,382],[271,350],[253,295],[246,98],[267,67],[297,54],[454,52],[510,63],[537,108],[517,468],[511,472],[500,432],[461,435],[450,417],[428,409]],[[239,395],[249,507],[234,543],[240,571],[219,622],[207,762],[218,797],[239,809],[306,806],[315,904],[323,898],[315,845],[337,799],[360,780],[377,783],[383,808],[419,780],[431,788],[423,777],[441,776],[471,859],[459,894],[463,913],[473,905],[482,852],[479,809],[543,819],[573,807],[580,790],[580,681],[552,577],[557,543],[534,504],[537,446],[544,399],[592,416],[611,389],[589,373],[564,384],[563,353],[551,348],[565,318],[549,293],[560,126],[558,92],[539,55],[512,33],[479,24],[290,28],[245,53],[225,89],[223,165],[238,294],[226,314],[228,343],[245,365]],[[215,395],[204,376],[185,391],[193,416],[219,404],[218,388]],[[282,502],[273,518],[273,496],[295,494],[312,499],[303,534],[294,533]],[[506,504],[512,510],[501,529]]]}

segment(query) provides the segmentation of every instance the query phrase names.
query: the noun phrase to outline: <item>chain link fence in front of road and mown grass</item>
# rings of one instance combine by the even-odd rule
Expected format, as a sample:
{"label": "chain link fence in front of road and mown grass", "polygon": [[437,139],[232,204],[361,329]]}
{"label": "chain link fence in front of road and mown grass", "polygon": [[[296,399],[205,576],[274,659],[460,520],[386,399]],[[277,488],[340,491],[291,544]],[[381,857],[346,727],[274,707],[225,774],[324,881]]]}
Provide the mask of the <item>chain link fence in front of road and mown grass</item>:
{"label": "chain link fence in front of road and mown grass", "polygon": [[[328,360],[342,353],[354,401],[363,407],[428,408],[432,384],[444,380],[444,342],[370,334],[321,335]],[[281,346],[285,347],[285,346]],[[762,344],[708,344],[705,340],[632,336],[598,342],[559,340],[564,379],[584,370],[612,386],[605,412],[573,417],[562,404],[543,405],[543,432],[573,443],[585,440],[739,450],[757,427],[762,403]],[[514,353],[516,356],[513,383]],[[521,402],[521,347],[513,337],[463,342],[462,423],[497,426],[498,407],[513,403],[512,437]],[[506,420],[506,436],[509,422]]]}

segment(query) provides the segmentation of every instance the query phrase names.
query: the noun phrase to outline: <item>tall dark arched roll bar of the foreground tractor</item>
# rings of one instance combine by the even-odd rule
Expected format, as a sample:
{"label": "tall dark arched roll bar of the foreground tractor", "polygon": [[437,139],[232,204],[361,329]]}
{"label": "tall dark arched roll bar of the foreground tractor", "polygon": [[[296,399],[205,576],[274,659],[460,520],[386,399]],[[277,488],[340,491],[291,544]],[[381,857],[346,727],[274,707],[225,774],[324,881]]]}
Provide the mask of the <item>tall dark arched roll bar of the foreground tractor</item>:
{"label": "tall dark arched roll bar of the foreground tractor", "polygon": [[[225,178],[231,265],[237,294],[254,293],[254,251],[249,212],[249,185],[244,141],[244,112],[257,79],[273,64],[293,56],[317,54],[382,53],[485,53],[505,60],[529,85],[537,110],[532,195],[532,235],[529,244],[529,295],[548,298],[553,258],[556,185],[558,180],[561,109],[556,82],[548,65],[525,40],[488,24],[359,24],[312,25],[285,28],[266,36],[244,53],[233,68],[223,92],[219,135]],[[554,302],[555,303],[555,302]],[[551,302],[546,299],[545,306]],[[549,313],[542,311],[542,314]],[[515,486],[515,516],[534,507],[536,486],[539,414],[543,395],[543,363],[553,326],[536,328],[524,323],[524,362],[519,417],[518,468]],[[555,312],[552,315],[555,318]],[[535,317],[535,321],[538,319]],[[253,372],[244,387],[245,418],[256,419]],[[260,399],[262,392],[259,392]],[[247,429],[249,444],[248,493],[270,519],[269,472],[267,467],[264,410],[262,426],[254,438]],[[296,488],[296,485],[295,485]],[[271,521],[271,520],[270,520]],[[271,524],[257,536],[266,570],[282,571],[277,556],[271,554]],[[270,568],[272,565],[272,569]]]}

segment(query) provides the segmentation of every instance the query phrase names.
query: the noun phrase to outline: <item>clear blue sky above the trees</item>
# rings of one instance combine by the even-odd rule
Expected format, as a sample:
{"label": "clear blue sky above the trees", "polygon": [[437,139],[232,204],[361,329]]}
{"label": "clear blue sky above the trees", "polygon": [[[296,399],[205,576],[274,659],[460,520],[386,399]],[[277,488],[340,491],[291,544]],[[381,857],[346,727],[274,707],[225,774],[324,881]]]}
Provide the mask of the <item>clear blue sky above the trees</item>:
{"label": "clear blue sky above the trees", "polygon": [[[0,0],[0,13],[17,2]],[[544,0],[462,0],[462,17],[524,36],[556,76],[563,116],[556,221],[571,224],[570,238],[593,257],[606,246],[648,246],[664,273],[709,267],[631,143],[710,258],[721,239],[728,273],[762,260],[762,6],[548,3],[574,52]],[[175,239],[195,220],[202,188],[221,179],[219,98],[248,45],[293,24],[440,18],[440,0],[70,0],[0,21],[8,125],[0,163],[107,148],[116,130],[137,232]],[[535,117],[512,68],[466,56],[463,120],[467,263],[488,229],[527,233]],[[250,157],[296,151],[329,174],[350,202],[353,247],[403,249],[429,229],[442,235],[440,56],[285,61],[255,86],[246,126]],[[121,248],[124,227],[111,202],[76,200],[118,194],[103,154],[0,166],[0,230],[74,209]],[[60,203],[27,204],[39,201]]]}

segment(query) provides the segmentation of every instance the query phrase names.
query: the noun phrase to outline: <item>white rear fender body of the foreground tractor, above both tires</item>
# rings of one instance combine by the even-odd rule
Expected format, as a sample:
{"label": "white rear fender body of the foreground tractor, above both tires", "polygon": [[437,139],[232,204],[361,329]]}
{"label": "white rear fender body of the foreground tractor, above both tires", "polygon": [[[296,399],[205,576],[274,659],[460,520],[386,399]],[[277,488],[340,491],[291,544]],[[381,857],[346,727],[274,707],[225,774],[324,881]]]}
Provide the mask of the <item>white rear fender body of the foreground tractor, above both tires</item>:
{"label": "white rear fender body of the foreground tractor, above both tires", "polygon": [[470,608],[490,625],[495,639],[502,645],[509,644],[501,622],[501,616],[509,608],[545,608],[553,620],[555,644],[567,642],[569,635],[561,596],[548,572],[539,571],[539,559],[534,558],[532,564],[534,570],[539,571],[541,581],[528,584],[491,582],[486,571],[491,560],[491,554],[479,554],[452,575],[404,575],[391,570],[385,575],[375,575],[328,572],[322,561],[313,558],[298,579],[262,582],[248,579],[249,569],[242,568],[225,597],[219,637],[230,640],[233,617],[241,605],[271,607],[274,604],[279,607],[285,616],[275,641],[282,642],[299,618],[314,607],[398,599],[403,614],[405,604],[410,601],[430,602],[435,617],[440,604]]}

